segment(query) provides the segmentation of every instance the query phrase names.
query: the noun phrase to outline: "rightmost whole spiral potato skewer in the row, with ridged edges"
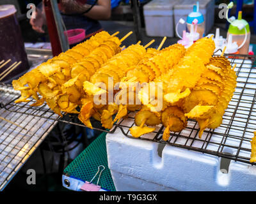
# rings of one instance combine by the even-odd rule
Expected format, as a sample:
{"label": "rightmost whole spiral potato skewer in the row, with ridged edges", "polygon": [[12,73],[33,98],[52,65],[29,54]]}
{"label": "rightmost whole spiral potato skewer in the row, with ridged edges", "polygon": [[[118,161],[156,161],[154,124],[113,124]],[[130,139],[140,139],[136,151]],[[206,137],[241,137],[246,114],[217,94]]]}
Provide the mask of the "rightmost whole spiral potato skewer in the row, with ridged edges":
{"label": "rightmost whole spiral potato skewer in the row, with ridged edges", "polygon": [[[205,128],[218,128],[225,109],[236,89],[236,71],[225,57],[212,57],[205,66],[191,94],[186,98],[186,117],[195,119],[200,125],[199,137]],[[209,108],[211,106],[211,108]]]}

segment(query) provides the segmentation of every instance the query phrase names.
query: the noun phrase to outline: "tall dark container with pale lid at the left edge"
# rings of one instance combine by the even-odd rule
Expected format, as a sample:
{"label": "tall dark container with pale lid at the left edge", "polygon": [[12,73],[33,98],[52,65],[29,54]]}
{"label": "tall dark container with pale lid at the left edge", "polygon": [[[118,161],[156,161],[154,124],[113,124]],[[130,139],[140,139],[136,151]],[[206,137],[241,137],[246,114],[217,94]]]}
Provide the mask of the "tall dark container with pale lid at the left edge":
{"label": "tall dark container with pale lid at the left edge", "polygon": [[14,62],[21,61],[21,64],[3,79],[3,82],[6,83],[9,83],[13,78],[19,77],[29,69],[28,57],[15,13],[16,9],[13,5],[0,6],[0,61],[11,60],[0,69],[0,73]]}

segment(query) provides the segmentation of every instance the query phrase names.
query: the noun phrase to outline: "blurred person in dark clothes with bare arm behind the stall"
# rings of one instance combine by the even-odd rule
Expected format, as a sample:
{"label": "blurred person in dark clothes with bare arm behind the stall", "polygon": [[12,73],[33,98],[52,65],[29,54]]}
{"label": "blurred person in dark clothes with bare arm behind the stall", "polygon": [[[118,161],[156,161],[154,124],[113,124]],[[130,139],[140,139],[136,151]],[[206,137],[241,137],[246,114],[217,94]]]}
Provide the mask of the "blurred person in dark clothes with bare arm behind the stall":
{"label": "blurred person in dark clothes with bare arm behind the stall", "polygon": [[[67,30],[85,29],[86,38],[102,31],[98,20],[108,20],[111,17],[111,0],[59,0],[59,9]],[[44,6],[36,7],[35,18],[31,18],[32,28],[38,33],[45,33],[46,24]]]}

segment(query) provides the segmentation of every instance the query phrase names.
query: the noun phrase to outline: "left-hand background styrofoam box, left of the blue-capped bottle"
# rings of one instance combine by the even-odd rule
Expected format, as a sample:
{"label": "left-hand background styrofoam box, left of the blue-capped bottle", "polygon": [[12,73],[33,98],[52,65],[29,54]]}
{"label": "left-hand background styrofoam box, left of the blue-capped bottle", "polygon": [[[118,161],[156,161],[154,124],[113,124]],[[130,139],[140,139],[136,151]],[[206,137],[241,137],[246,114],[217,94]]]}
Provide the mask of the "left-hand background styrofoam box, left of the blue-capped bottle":
{"label": "left-hand background styrofoam box, left of the blue-capped bottle", "polygon": [[173,37],[173,0],[153,0],[143,6],[148,36]]}

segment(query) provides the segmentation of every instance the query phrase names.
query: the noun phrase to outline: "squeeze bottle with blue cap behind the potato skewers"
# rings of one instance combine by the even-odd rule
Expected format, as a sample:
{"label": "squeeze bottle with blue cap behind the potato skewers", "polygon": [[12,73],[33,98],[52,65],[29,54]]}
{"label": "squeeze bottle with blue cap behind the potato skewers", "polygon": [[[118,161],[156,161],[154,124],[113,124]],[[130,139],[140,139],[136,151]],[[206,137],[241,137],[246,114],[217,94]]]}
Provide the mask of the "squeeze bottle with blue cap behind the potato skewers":
{"label": "squeeze bottle with blue cap behind the potato skewers", "polygon": [[204,22],[204,15],[202,15],[202,13],[200,13],[199,11],[199,2],[196,2],[196,5],[193,6],[193,11],[191,13],[189,13],[188,17],[187,17],[187,29],[190,32],[190,29],[193,25],[193,22],[197,22],[197,29],[196,32],[199,33],[199,38],[202,38],[205,36],[205,22]]}

